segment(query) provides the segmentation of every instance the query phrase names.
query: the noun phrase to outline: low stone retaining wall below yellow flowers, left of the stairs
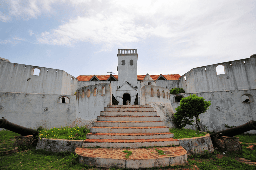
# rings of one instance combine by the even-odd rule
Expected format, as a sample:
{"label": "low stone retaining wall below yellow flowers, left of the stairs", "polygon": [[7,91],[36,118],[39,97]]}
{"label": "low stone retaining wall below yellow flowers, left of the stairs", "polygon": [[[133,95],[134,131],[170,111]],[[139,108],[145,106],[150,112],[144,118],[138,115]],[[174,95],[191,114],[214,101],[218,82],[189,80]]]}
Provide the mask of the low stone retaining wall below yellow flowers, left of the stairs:
{"label": "low stone retaining wall below yellow flowers, left of the stairs", "polygon": [[82,147],[83,140],[45,139],[39,138],[36,150],[52,152],[74,152],[77,147]]}

